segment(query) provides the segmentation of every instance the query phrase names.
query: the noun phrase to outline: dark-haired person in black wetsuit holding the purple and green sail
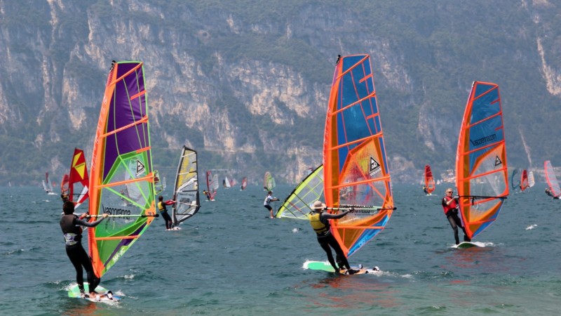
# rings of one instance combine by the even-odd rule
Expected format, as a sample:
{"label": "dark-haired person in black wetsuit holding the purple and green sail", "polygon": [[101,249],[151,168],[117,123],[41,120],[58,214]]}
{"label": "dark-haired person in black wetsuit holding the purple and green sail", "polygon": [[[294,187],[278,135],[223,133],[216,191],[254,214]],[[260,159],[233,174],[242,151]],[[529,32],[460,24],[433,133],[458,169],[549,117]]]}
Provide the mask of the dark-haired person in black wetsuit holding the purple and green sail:
{"label": "dark-haired person in black wetsuit holding the purple and green sail", "polygon": [[86,213],[83,213],[80,217],[74,215],[74,203],[71,201],[62,204],[62,211],[64,211],[64,215],[60,218],[60,228],[65,235],[66,254],[74,265],[74,269],[76,269],[76,283],[78,283],[80,293],[84,294],[83,267],[88,275],[90,296],[95,296],[97,294],[95,288],[100,284],[101,279],[93,272],[91,259],[82,247],[82,228],[80,226],[95,227],[107,217],[107,213],[103,214],[102,218],[90,223],[81,219],[86,216]]}

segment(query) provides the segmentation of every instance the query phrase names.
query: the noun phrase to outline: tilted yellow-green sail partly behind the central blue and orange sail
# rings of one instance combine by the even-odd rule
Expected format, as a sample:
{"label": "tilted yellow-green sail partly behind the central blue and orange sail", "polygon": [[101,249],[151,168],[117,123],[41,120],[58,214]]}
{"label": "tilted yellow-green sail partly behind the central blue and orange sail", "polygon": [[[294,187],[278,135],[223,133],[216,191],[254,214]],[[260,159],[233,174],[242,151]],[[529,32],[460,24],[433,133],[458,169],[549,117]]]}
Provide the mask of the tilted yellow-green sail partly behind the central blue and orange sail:
{"label": "tilted yellow-green sail partly behind the central blue and orange sail", "polygon": [[307,220],[313,202],[323,198],[323,164],[313,170],[288,195],[276,213],[276,218],[297,218]]}

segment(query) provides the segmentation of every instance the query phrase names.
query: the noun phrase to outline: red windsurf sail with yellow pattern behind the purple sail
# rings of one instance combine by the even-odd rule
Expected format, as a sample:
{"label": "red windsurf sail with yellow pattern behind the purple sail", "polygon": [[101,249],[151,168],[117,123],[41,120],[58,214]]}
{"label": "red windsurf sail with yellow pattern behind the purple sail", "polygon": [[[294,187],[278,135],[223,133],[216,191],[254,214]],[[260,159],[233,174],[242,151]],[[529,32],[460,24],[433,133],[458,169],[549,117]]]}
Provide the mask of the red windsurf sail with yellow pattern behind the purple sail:
{"label": "red windsurf sail with yellow pattern behind the purple sail", "polygon": [[86,166],[86,157],[83,150],[74,148],[72,156],[72,164],[70,165],[69,181],[69,197],[74,202],[74,209],[80,206],[88,199],[88,186],[90,185],[90,177],[88,176],[88,166]]}

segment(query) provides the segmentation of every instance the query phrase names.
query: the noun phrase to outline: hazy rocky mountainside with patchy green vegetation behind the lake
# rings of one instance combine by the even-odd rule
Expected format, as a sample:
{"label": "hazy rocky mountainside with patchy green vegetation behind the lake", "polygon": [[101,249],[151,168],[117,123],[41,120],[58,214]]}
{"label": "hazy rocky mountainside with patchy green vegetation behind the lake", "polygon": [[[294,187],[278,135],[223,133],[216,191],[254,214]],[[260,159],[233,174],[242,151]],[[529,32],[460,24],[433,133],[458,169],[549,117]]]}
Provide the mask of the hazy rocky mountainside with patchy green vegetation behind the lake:
{"label": "hazy rocky mountainside with patchy green vegetation behind the lake", "polygon": [[[396,181],[454,166],[474,80],[499,84],[511,166],[555,165],[557,1],[0,0],[0,184],[91,154],[111,60],[142,60],[156,169],[296,183],[321,163],[337,54],[372,57]],[[169,185],[169,183],[168,183]]]}

